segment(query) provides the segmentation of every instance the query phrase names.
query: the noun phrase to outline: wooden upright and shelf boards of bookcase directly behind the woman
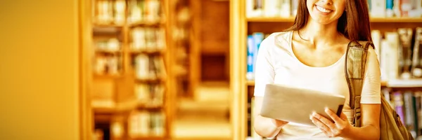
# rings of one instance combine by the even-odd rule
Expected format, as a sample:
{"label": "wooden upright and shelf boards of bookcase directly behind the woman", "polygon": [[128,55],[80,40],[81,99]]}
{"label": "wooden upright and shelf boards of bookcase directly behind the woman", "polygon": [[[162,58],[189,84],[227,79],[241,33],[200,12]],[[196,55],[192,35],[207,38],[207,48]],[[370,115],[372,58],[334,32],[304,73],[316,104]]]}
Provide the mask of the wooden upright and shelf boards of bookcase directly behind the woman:
{"label": "wooden upright and shelf boards of bookcase directly behind the woman", "polygon": [[[271,34],[293,25],[295,18],[247,17],[245,0],[230,1],[230,85],[231,85],[231,122],[234,139],[246,139],[248,127],[248,100],[253,94],[254,80],[246,79],[247,38],[255,31]],[[422,18],[371,18],[371,28],[381,33],[395,31],[398,27],[422,27]],[[381,87],[414,88],[422,87],[422,80],[383,81]]]}

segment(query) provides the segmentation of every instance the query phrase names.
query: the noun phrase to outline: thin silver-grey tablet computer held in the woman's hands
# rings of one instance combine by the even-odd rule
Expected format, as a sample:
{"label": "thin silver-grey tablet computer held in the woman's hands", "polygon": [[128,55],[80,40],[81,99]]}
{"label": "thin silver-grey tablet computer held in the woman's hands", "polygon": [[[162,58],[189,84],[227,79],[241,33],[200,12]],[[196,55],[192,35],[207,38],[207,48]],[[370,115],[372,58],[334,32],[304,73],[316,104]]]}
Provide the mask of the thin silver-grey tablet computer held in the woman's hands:
{"label": "thin silver-grey tablet computer held in the woman's hands", "polygon": [[331,109],[340,116],[345,97],[298,87],[267,84],[260,115],[302,125],[315,126],[309,116],[313,112],[333,121],[325,109]]}

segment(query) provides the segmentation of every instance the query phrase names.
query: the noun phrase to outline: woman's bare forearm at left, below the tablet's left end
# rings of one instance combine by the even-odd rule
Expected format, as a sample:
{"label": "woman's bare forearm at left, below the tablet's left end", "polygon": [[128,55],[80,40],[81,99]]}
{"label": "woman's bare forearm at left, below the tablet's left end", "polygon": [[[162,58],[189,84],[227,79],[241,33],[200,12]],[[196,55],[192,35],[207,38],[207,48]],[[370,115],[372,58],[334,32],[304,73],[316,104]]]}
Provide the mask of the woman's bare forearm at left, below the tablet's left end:
{"label": "woman's bare forearm at left, below the tablet's left end", "polygon": [[254,130],[261,137],[275,137],[279,134],[281,127],[286,125],[287,122],[260,116],[262,100],[263,97],[255,97],[255,106],[253,106],[255,114],[252,114],[255,118],[253,123]]}

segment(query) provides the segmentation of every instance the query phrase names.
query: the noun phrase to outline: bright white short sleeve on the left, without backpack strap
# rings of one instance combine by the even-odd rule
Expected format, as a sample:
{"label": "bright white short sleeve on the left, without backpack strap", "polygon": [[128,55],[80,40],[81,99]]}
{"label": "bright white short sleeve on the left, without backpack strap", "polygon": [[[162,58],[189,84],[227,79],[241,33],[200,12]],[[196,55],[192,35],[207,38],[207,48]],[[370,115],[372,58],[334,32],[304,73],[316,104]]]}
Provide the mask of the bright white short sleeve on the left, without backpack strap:
{"label": "bright white short sleeve on the left, without backpack strap", "polygon": [[264,97],[265,86],[274,83],[274,67],[269,50],[274,45],[274,34],[265,38],[258,50],[255,62],[255,89],[254,96]]}

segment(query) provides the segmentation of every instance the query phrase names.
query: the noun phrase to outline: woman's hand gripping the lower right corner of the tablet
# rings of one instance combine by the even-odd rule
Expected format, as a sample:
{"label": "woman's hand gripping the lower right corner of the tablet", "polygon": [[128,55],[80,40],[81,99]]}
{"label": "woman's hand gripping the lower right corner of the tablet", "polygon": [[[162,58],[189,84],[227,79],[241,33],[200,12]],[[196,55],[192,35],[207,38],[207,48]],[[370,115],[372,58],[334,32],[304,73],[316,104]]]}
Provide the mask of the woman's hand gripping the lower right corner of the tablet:
{"label": "woman's hand gripping the lower right corner of the tablet", "polygon": [[310,116],[312,123],[328,137],[344,137],[348,135],[353,126],[350,125],[347,116],[342,112],[340,117],[338,117],[337,114],[330,109],[326,109],[325,111],[328,116],[334,120],[334,123],[318,113],[312,113],[312,116]]}

